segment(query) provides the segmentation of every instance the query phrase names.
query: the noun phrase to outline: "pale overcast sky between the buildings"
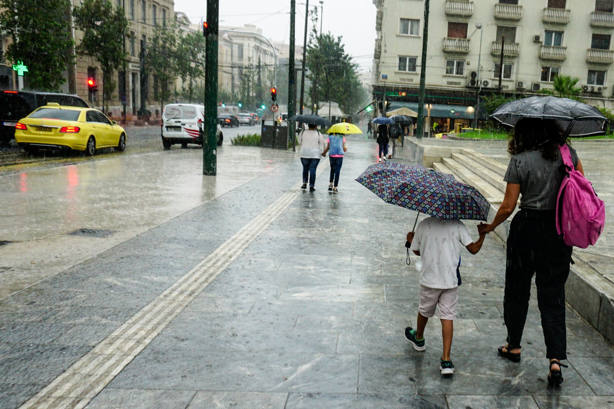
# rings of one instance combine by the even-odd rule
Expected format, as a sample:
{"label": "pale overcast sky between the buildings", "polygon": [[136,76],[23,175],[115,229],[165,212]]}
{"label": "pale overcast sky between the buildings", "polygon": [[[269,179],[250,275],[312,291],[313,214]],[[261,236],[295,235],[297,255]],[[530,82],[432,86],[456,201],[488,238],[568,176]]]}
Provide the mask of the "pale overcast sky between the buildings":
{"label": "pale overcast sky between the buildings", "polygon": [[[300,4],[303,3],[303,4]],[[309,8],[319,0],[309,0]],[[319,9],[319,7],[318,7]],[[205,0],[175,0],[175,10],[199,23],[207,14]],[[375,45],[375,6],[372,0],[324,0],[324,32],[343,36],[346,52],[361,69],[371,68]],[[252,23],[276,41],[289,42],[290,0],[220,0],[220,25]],[[303,44],[305,0],[297,0],[296,41]]]}

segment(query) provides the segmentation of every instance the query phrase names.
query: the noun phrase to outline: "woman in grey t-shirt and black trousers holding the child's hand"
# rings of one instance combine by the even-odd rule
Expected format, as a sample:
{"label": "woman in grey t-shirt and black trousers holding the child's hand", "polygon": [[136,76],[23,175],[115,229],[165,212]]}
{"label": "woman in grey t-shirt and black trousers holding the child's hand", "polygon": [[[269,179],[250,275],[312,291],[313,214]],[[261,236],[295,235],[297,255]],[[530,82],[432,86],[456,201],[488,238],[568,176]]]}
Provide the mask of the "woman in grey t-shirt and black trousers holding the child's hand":
{"label": "woman in grey t-shirt and black trousers holding the child's hand", "polygon": [[[531,278],[535,275],[537,305],[542,315],[546,358],[550,360],[548,382],[563,381],[561,360],[567,359],[565,333],[565,282],[569,276],[572,247],[556,230],[556,206],[564,174],[559,146],[568,143],[558,123],[551,119],[522,118],[515,124],[509,142],[510,164],[504,181],[503,203],[491,224],[478,226],[492,232],[511,216],[518,197],[520,211],[511,220],[507,239],[507,267],[503,319],[507,343],[499,355],[520,362],[521,340],[529,308]],[[582,163],[569,146],[573,167],[584,174]]]}

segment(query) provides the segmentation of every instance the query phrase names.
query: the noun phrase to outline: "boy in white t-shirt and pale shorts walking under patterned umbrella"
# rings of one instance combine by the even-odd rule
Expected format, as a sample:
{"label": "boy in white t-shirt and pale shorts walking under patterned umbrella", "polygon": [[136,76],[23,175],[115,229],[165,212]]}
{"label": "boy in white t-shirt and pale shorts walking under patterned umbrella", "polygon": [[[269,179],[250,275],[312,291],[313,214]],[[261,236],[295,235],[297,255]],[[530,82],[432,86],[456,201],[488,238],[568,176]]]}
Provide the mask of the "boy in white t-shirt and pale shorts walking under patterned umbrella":
{"label": "boy in white t-shirt and pale shorts walking under patterned umbrella", "polygon": [[422,268],[417,328],[407,327],[405,339],[416,351],[424,351],[424,327],[435,314],[437,307],[443,335],[443,355],[439,367],[441,375],[454,375],[450,350],[458,301],[457,268],[461,259],[460,244],[471,254],[477,254],[482,248],[484,237],[486,234],[480,235],[480,239],[473,243],[461,220],[443,220],[437,217],[422,220],[415,233],[407,233],[410,249],[421,257]]}

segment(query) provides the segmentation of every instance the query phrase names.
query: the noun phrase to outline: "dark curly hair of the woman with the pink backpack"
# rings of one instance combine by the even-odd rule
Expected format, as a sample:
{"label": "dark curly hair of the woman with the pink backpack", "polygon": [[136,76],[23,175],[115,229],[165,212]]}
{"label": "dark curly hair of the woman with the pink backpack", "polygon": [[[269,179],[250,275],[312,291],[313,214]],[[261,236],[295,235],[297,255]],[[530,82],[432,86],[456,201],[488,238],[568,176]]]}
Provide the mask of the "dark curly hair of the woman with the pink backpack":
{"label": "dark curly hair of the woman with the pink backpack", "polygon": [[559,146],[568,142],[553,119],[523,118],[516,123],[507,151],[511,156],[525,150],[539,150],[546,159],[559,158]]}

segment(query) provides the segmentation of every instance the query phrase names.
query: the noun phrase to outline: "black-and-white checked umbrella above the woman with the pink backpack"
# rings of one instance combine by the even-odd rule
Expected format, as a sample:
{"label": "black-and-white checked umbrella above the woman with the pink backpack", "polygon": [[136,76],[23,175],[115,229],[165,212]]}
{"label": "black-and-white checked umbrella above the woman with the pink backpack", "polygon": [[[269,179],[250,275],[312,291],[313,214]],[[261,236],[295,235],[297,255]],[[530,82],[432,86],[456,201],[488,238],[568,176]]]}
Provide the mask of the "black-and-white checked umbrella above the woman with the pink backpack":
{"label": "black-and-white checked umbrella above the woman with the pink backpack", "polygon": [[569,98],[531,96],[502,104],[489,118],[513,128],[521,118],[553,119],[565,136],[581,138],[605,134],[604,115],[594,106]]}

